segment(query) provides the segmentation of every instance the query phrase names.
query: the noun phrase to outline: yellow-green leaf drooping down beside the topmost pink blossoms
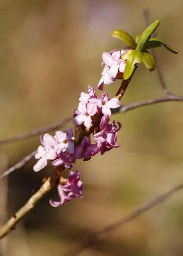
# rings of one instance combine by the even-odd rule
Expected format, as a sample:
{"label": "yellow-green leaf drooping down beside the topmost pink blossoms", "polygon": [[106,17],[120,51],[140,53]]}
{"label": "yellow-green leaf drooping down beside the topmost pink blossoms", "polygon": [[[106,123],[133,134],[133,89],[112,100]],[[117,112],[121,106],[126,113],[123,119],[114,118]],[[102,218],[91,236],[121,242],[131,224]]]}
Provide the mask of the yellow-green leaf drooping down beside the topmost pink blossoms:
{"label": "yellow-green leaf drooping down beside the topmost pink blossoms", "polygon": [[143,53],[138,50],[133,50],[131,54],[128,56],[125,66],[125,72],[123,74],[123,79],[128,79],[132,75],[134,71],[134,65],[136,63],[140,63],[143,58]]}

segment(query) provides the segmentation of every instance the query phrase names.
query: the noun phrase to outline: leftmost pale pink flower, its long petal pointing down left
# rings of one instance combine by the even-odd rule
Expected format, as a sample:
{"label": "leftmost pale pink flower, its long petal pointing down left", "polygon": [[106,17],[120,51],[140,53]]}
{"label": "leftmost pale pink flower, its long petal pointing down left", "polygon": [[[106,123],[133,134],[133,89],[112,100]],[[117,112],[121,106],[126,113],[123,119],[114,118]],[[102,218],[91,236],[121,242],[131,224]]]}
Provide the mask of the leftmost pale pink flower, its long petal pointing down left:
{"label": "leftmost pale pink flower, its long petal pointing down left", "polygon": [[57,154],[54,152],[54,145],[57,143],[57,139],[49,134],[41,135],[41,144],[43,146],[38,147],[38,153],[35,154],[35,159],[39,159],[33,167],[35,172],[40,171],[47,165],[47,160],[55,160]]}

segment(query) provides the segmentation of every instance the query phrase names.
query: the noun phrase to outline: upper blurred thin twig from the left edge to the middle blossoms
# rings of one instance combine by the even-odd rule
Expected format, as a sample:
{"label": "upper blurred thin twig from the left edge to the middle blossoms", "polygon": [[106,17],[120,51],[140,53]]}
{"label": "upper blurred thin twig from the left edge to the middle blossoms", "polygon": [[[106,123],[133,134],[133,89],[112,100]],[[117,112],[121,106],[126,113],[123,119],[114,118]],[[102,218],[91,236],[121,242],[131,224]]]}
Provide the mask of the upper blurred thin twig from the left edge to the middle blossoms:
{"label": "upper blurred thin twig from the left edge to the middle blossoms", "polygon": [[70,122],[72,119],[73,119],[72,117],[69,117],[69,118],[61,120],[60,122],[57,122],[57,123],[55,123],[53,125],[44,126],[44,127],[40,128],[40,129],[35,129],[33,131],[30,131],[30,132],[27,132],[27,133],[24,133],[24,134],[19,134],[19,135],[15,136],[15,137],[12,137],[12,138],[9,138],[9,139],[1,140],[0,141],[0,145],[6,144],[6,143],[16,142],[18,140],[28,139],[30,137],[37,136],[39,134],[44,134],[47,131],[54,131],[58,127],[61,127],[61,126],[65,125],[65,124],[67,124],[67,122]]}

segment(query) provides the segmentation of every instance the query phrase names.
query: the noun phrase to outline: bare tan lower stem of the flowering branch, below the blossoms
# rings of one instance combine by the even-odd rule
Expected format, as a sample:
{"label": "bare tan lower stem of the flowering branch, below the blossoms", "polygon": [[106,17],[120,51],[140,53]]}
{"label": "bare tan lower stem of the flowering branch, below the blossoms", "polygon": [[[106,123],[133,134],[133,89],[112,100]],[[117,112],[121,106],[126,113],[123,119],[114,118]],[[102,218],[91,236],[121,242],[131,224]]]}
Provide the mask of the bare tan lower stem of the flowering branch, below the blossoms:
{"label": "bare tan lower stem of the flowering branch, below the blossoms", "polygon": [[22,208],[20,208],[6,224],[0,228],[0,239],[6,236],[9,232],[11,232],[15,225],[28,213],[32,210],[35,205],[40,201],[48,192],[52,190],[55,186],[56,180],[64,171],[64,166],[56,167],[55,171],[51,176],[44,182],[41,188],[27,201],[26,204]]}

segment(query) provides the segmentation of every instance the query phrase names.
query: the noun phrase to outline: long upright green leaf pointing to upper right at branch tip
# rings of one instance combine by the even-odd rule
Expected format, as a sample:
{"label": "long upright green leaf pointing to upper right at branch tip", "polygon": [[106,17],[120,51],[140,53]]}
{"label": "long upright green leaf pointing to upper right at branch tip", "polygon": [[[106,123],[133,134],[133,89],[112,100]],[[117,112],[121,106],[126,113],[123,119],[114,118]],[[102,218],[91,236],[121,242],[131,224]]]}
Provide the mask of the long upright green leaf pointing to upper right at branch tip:
{"label": "long upright green leaf pointing to upper right at branch tip", "polygon": [[151,35],[157,29],[159,24],[160,24],[160,20],[156,20],[154,23],[148,26],[147,29],[145,29],[145,31],[142,33],[142,35],[139,38],[139,41],[136,47],[137,50],[143,52],[145,45],[147,44],[147,42],[151,38]]}

